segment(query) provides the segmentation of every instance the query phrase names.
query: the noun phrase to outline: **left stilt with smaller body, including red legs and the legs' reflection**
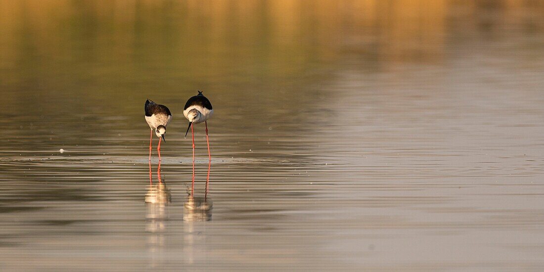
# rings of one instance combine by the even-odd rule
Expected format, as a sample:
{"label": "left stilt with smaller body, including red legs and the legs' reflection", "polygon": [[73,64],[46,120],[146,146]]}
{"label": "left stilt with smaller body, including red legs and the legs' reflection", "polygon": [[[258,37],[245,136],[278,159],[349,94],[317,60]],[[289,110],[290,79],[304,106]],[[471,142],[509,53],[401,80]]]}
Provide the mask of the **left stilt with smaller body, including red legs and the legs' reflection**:
{"label": "left stilt with smaller body, including red legs and the legs' reflection", "polygon": [[155,135],[159,137],[159,145],[157,146],[159,166],[157,168],[157,174],[159,175],[160,183],[162,182],[160,180],[160,138],[166,143],[164,134],[166,133],[166,126],[168,126],[170,120],[172,120],[172,114],[166,106],[157,104],[149,99],[145,101],[145,121],[147,121],[147,124],[151,128],[149,139],[149,181],[151,184],[153,183],[151,180],[151,142],[153,141],[153,131],[155,132]]}

